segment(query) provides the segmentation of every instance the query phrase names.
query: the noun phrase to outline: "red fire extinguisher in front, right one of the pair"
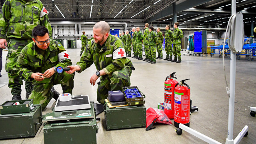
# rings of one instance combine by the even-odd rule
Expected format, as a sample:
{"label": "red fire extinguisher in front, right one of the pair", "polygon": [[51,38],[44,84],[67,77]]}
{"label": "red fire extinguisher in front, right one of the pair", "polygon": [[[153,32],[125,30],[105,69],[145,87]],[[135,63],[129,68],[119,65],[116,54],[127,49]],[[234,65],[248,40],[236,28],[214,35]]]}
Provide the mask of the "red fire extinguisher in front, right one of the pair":
{"label": "red fire extinguisher in front, right one of the pair", "polygon": [[174,88],[174,126],[176,128],[179,128],[179,124],[189,127],[190,123],[190,87],[185,83],[186,80],[180,81]]}

